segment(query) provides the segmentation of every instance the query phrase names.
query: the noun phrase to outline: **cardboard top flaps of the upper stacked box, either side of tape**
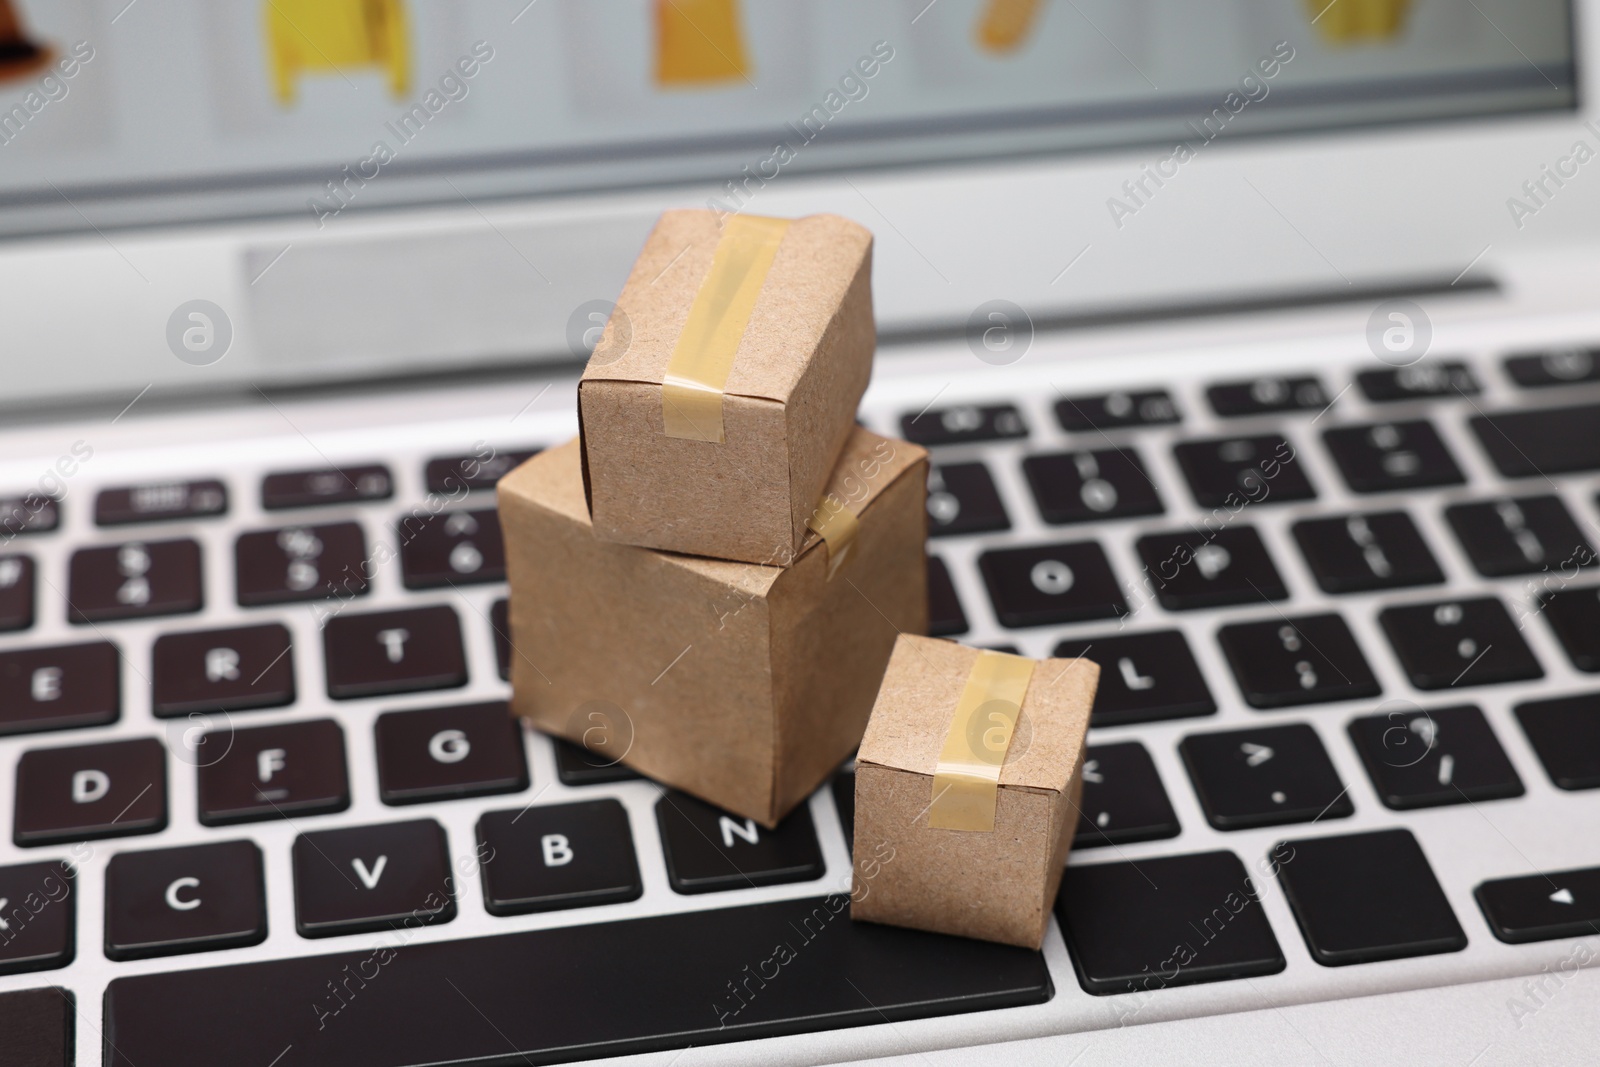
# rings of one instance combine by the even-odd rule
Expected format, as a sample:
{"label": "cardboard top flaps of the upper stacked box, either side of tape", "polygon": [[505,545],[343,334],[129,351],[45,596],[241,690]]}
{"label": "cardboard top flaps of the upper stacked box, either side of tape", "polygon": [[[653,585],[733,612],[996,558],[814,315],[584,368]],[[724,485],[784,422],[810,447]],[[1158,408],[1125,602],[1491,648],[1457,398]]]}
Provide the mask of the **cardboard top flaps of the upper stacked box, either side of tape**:
{"label": "cardboard top flaps of the upper stacked box, either side of tape", "polygon": [[[659,386],[690,306],[710,272],[715,211],[667,211],[645,240],[579,387],[595,381]],[[750,310],[723,392],[787,403],[806,362],[872,254],[872,232],[835,214],[789,226]]]}

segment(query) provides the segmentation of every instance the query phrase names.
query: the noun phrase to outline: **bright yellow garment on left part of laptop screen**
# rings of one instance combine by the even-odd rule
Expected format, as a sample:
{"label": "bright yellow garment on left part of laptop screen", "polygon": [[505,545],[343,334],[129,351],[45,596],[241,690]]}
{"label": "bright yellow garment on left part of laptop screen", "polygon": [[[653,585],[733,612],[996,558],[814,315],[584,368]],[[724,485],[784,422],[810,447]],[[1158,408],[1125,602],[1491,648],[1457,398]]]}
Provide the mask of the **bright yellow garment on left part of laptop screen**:
{"label": "bright yellow garment on left part of laptop screen", "polygon": [[280,102],[294,102],[299,75],[349,67],[378,67],[390,93],[405,93],[411,58],[400,0],[267,0],[266,14]]}

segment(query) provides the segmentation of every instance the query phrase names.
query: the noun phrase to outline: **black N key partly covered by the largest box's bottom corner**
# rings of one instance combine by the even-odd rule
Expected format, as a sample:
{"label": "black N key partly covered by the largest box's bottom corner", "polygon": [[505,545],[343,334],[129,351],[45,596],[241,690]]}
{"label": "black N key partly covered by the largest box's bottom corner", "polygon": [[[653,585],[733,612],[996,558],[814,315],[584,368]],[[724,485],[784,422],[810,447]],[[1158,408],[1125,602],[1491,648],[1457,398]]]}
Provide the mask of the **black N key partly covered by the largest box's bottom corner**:
{"label": "black N key partly covered by the largest box's bottom corner", "polygon": [[822,849],[808,805],[768,830],[755,819],[667,790],[656,801],[656,824],[674,893],[718,893],[822,877]]}

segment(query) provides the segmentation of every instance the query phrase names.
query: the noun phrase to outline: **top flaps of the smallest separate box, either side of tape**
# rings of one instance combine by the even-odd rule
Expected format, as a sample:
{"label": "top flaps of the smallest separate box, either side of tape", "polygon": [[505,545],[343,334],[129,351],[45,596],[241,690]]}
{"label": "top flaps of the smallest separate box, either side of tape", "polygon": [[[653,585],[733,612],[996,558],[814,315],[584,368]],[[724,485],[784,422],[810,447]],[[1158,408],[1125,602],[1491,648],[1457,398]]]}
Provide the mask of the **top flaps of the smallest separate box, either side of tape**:
{"label": "top flaps of the smallest separate box, either side of tape", "polygon": [[[894,645],[858,763],[877,763],[930,782],[978,659],[976,648],[902,637]],[[1082,761],[1099,665],[1088,659],[1040,659],[1022,699],[1000,787],[1061,792]]]}

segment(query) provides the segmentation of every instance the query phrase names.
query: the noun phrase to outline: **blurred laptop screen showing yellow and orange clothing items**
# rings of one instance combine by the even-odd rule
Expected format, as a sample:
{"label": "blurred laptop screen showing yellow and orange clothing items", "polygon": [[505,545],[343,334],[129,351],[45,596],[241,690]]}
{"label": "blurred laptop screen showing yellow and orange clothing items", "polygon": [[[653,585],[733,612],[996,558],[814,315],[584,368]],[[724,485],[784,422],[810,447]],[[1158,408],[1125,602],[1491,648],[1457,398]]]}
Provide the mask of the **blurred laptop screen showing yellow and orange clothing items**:
{"label": "blurred laptop screen showing yellow and orange clothing items", "polygon": [[1574,104],[1568,0],[0,0],[0,232]]}

